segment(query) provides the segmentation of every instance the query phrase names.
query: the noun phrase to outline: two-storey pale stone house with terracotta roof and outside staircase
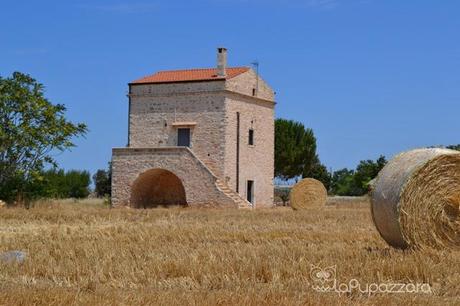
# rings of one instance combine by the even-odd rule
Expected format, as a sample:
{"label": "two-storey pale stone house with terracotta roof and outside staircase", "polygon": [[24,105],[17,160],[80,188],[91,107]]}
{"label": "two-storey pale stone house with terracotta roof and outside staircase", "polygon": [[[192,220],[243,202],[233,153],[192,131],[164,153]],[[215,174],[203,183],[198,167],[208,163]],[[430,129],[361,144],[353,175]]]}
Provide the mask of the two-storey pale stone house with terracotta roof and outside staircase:
{"label": "two-storey pale stone house with terracotta roof and outside staircase", "polygon": [[249,67],[160,71],[129,84],[112,204],[273,205],[274,92]]}

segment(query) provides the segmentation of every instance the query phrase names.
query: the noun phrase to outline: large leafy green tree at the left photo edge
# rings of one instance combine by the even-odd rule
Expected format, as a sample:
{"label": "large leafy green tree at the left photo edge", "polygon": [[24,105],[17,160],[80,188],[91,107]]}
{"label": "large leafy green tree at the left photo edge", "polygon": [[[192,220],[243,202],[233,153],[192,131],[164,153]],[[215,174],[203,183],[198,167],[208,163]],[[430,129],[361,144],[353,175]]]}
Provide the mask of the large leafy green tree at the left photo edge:
{"label": "large leafy green tree at the left photo edge", "polygon": [[87,132],[85,124],[68,121],[65,111],[29,75],[0,77],[0,198],[31,198],[44,166],[56,165],[52,153],[73,147],[72,138]]}

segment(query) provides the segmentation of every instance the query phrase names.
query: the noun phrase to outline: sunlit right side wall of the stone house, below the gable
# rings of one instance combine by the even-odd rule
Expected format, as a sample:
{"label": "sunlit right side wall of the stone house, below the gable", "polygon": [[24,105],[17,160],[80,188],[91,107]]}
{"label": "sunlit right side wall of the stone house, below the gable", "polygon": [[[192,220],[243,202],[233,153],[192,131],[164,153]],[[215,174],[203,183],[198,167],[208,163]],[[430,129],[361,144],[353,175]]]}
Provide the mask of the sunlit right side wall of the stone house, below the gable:
{"label": "sunlit right side wall of the stone house, below the gable", "polygon": [[[225,171],[227,184],[236,190],[236,113],[240,113],[239,194],[246,198],[247,181],[254,181],[256,207],[273,205],[274,103],[253,98],[228,97],[226,107]],[[249,129],[254,145],[248,144]]]}

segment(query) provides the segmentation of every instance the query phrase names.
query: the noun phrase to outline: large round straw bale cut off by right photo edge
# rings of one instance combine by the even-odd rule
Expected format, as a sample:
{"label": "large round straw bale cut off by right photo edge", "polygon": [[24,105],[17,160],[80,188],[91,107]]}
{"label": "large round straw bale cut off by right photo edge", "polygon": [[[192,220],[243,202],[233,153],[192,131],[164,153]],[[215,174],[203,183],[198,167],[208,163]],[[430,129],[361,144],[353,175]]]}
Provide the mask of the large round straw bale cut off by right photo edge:
{"label": "large round straw bale cut off by right photo edge", "polygon": [[460,153],[417,149],[391,160],[371,195],[372,218],[396,248],[460,247]]}

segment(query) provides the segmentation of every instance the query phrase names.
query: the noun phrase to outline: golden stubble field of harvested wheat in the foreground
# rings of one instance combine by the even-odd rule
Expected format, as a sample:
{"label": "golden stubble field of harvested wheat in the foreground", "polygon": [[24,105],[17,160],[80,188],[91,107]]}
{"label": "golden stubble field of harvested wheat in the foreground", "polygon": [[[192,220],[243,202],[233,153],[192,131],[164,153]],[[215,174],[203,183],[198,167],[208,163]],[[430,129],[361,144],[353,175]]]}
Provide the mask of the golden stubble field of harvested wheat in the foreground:
{"label": "golden stubble field of harvested wheat in the foreground", "polygon": [[[460,253],[390,248],[360,201],[306,211],[3,208],[0,252],[27,258],[0,262],[0,304],[458,305]],[[347,291],[352,280],[360,289]],[[397,283],[403,292],[385,291]]]}

